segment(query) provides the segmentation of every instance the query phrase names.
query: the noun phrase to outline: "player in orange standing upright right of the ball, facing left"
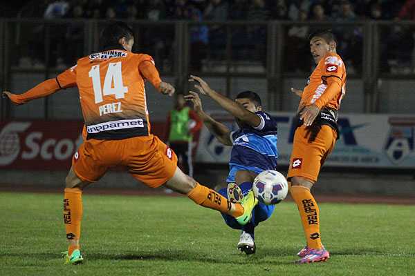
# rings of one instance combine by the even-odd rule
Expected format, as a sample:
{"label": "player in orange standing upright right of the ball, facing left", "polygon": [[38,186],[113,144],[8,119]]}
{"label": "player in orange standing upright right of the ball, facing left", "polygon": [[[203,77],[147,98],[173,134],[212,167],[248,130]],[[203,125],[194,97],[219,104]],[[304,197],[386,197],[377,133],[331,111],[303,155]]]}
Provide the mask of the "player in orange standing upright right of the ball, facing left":
{"label": "player in orange standing upright right of the ball, facing left", "polygon": [[317,67],[304,91],[292,88],[301,101],[287,176],[307,241],[297,254],[301,258],[299,264],[324,262],[330,257],[322,245],[320,210],[311,195],[311,187],[338,139],[338,110],[346,92],[346,68],[335,51],[335,37],[323,30],[310,38],[311,54]]}

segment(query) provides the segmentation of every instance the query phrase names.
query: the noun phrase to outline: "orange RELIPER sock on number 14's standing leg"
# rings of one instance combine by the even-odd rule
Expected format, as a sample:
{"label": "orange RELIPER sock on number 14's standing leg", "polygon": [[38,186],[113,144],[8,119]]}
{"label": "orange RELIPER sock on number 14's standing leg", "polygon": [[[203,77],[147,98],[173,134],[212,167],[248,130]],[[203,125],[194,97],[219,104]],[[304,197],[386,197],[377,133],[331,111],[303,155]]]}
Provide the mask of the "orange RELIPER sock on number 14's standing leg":
{"label": "orange RELIPER sock on number 14's standing leg", "polygon": [[64,224],[66,239],[69,242],[68,255],[80,248],[82,211],[82,190],[66,188],[64,190]]}

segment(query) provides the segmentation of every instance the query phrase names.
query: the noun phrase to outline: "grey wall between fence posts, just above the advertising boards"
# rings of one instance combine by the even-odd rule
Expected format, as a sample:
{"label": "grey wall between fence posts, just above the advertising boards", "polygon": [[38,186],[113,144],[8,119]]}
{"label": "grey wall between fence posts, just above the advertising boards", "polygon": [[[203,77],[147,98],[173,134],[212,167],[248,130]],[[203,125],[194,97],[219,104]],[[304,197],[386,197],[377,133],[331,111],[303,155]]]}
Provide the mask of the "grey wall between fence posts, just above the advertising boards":
{"label": "grey wall between fence posts, just above the advertising boards", "polygon": [[[164,77],[165,81],[174,83],[172,77]],[[37,83],[44,80],[43,74],[33,73],[15,73],[12,75],[12,91],[26,91]],[[210,86],[218,91],[226,90],[225,78],[205,78]],[[282,108],[279,111],[293,111],[298,105],[298,97],[290,92],[290,88],[303,88],[305,79],[291,78],[285,79],[284,90],[275,91],[275,95],[279,95],[278,103]],[[266,110],[268,106],[267,82],[266,79],[257,78],[232,78],[232,93],[230,97],[235,97],[237,92],[242,90],[253,90],[258,92],[264,99]],[[380,95],[380,113],[394,114],[411,114],[415,106],[415,95],[412,92],[415,81],[412,80],[393,80],[387,79],[378,83]],[[147,86],[147,104],[149,106],[150,119],[155,121],[163,121],[167,117],[167,112],[173,108],[173,99],[160,95],[152,86]],[[178,91],[186,92],[186,91]],[[344,113],[364,113],[364,88],[363,81],[360,79],[351,79],[347,82],[347,95],[342,101],[341,112]],[[205,110],[215,110],[218,106],[208,98],[203,99]],[[42,119],[44,117],[44,109],[46,108],[43,100],[32,101],[24,106],[12,106],[11,117],[16,119]],[[62,90],[48,99],[48,117],[49,119],[82,119],[80,104],[76,89]]]}

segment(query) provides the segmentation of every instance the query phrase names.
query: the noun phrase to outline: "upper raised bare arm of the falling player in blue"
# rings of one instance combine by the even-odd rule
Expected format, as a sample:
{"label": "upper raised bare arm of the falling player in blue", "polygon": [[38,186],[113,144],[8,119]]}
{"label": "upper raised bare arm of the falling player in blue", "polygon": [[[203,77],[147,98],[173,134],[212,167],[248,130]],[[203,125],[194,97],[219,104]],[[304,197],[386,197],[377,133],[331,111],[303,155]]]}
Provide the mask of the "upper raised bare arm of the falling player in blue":
{"label": "upper raised bare arm of the falling player in blue", "polygon": [[219,103],[222,108],[249,126],[257,127],[261,124],[261,118],[258,115],[254,112],[250,112],[236,101],[232,101],[232,99],[229,99],[214,91],[210,88],[208,83],[203,81],[200,77],[191,75],[189,81],[195,81],[197,84],[195,84],[194,87],[199,90],[201,94],[210,96],[214,101],[216,101],[216,103]]}

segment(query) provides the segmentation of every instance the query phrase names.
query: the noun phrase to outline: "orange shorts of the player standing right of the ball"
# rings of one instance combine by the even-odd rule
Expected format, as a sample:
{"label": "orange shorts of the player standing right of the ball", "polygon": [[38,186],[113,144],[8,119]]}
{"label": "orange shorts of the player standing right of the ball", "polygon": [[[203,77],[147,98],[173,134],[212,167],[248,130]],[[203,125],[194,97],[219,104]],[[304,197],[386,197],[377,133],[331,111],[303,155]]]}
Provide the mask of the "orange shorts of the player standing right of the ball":
{"label": "orange shorts of the player standing right of the ball", "polygon": [[337,133],[330,126],[323,125],[315,141],[308,142],[310,132],[302,125],[294,133],[293,151],[290,157],[287,179],[305,177],[317,181],[320,168],[333,150]]}

